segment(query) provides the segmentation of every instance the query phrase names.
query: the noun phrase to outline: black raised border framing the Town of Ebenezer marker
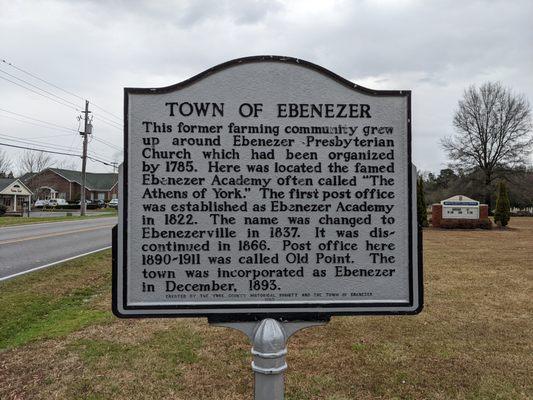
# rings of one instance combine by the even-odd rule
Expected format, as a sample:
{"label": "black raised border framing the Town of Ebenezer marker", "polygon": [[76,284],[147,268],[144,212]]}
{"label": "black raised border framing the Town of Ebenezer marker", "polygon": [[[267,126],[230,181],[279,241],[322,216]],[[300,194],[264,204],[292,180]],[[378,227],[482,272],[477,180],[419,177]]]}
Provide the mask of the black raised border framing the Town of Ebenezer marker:
{"label": "black raised border framing the Town of Ebenezer marker", "polygon": [[[305,67],[307,69],[314,70],[322,75],[327,76],[328,78],[340,83],[341,85],[360,92],[366,95],[371,96],[388,96],[388,97],[405,97],[407,99],[407,171],[408,171],[408,226],[409,226],[409,237],[408,237],[408,246],[409,246],[409,303],[344,303],[344,304],[328,304],[327,302],[317,302],[317,303],[307,303],[307,304],[276,304],[276,303],[256,303],[256,304],[246,304],[246,305],[233,305],[233,304],[216,304],[216,305],[206,305],[199,303],[198,305],[163,305],[163,306],[128,306],[127,305],[127,232],[128,232],[128,210],[127,210],[127,198],[128,198],[128,111],[129,111],[129,95],[130,94],[163,94],[170,93],[180,89],[183,89],[187,86],[190,86],[202,79],[205,79],[219,71],[236,67],[244,64],[252,64],[259,62],[277,62],[284,64],[293,64]],[[122,258],[122,293],[119,293],[118,288],[118,257],[116,252],[118,251],[118,235],[117,230],[114,230],[113,235],[113,283],[112,283],[112,292],[113,292],[113,313],[121,318],[154,318],[154,317],[208,317],[210,321],[227,321],[227,320],[259,320],[263,318],[276,318],[284,320],[320,320],[327,319],[331,315],[400,315],[400,314],[417,314],[422,310],[423,307],[423,283],[422,283],[422,230],[418,227],[418,265],[413,266],[413,182],[412,182],[412,173],[411,173],[411,91],[410,90],[373,90],[360,86],[350,82],[349,80],[331,72],[330,70],[323,68],[319,65],[313,64],[309,61],[304,61],[298,58],[293,57],[284,57],[284,56],[251,56],[239,58],[225,63],[214,66],[204,72],[201,72],[185,81],[180,83],[160,87],[160,88],[124,88],[124,165],[123,165],[123,186],[122,186],[122,201],[123,201],[123,258]],[[418,287],[415,289],[414,286],[414,272],[413,269],[417,268],[418,272]],[[418,307],[414,310],[410,309],[414,305],[414,290],[417,290],[418,294]],[[124,310],[135,311],[135,314],[125,314],[122,313],[118,307],[119,296],[121,295],[122,307]],[[328,311],[329,307],[338,307],[338,308],[352,308],[352,310],[344,311]],[[386,307],[395,307],[395,308],[405,308],[405,311],[365,311],[364,308],[386,308]],[[244,311],[244,309],[257,308],[257,312],[250,313],[249,311]],[[269,308],[287,308],[287,312],[268,312]],[[307,310],[302,310],[308,308]],[[360,311],[353,310],[354,308],[361,308]],[[198,313],[180,313],[179,310],[194,310],[198,309]],[[298,310],[299,309],[299,310]],[[142,311],[148,310],[175,310],[176,313],[142,313]],[[227,314],[220,313],[210,313],[208,310],[227,310]],[[139,311],[138,313],[136,311]]]}

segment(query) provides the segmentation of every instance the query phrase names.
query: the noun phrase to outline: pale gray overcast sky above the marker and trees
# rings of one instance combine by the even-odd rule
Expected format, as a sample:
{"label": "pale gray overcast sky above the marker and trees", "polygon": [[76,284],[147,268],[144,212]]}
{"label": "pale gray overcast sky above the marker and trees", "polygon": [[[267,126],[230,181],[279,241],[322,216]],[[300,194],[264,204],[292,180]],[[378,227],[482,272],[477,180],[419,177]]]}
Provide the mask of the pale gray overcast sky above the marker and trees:
{"label": "pale gray overcast sky above the marker and trees", "polygon": [[[0,0],[0,59],[103,108],[93,109],[89,148],[114,160],[122,131],[112,114],[122,116],[123,87],[167,86],[243,56],[301,58],[372,89],[412,90],[413,161],[438,172],[447,163],[440,140],[453,133],[467,86],[497,80],[533,101],[532,17],[531,0]],[[0,142],[79,153],[75,132],[22,121],[77,130],[80,113],[6,73],[84,104],[0,62],[0,109],[20,114],[0,110]],[[0,149],[16,163],[20,153]],[[90,162],[88,170],[110,168]]]}

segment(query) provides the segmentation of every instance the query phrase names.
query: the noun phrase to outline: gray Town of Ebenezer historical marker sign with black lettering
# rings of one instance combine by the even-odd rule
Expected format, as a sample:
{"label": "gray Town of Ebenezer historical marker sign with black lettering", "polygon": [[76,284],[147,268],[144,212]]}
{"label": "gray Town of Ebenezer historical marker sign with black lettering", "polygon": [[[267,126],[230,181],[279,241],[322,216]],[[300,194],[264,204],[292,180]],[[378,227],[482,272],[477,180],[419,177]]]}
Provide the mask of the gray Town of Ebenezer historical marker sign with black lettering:
{"label": "gray Town of Ebenezer historical marker sign with black lettering", "polygon": [[117,315],[420,311],[409,91],[251,57],[124,112]]}

